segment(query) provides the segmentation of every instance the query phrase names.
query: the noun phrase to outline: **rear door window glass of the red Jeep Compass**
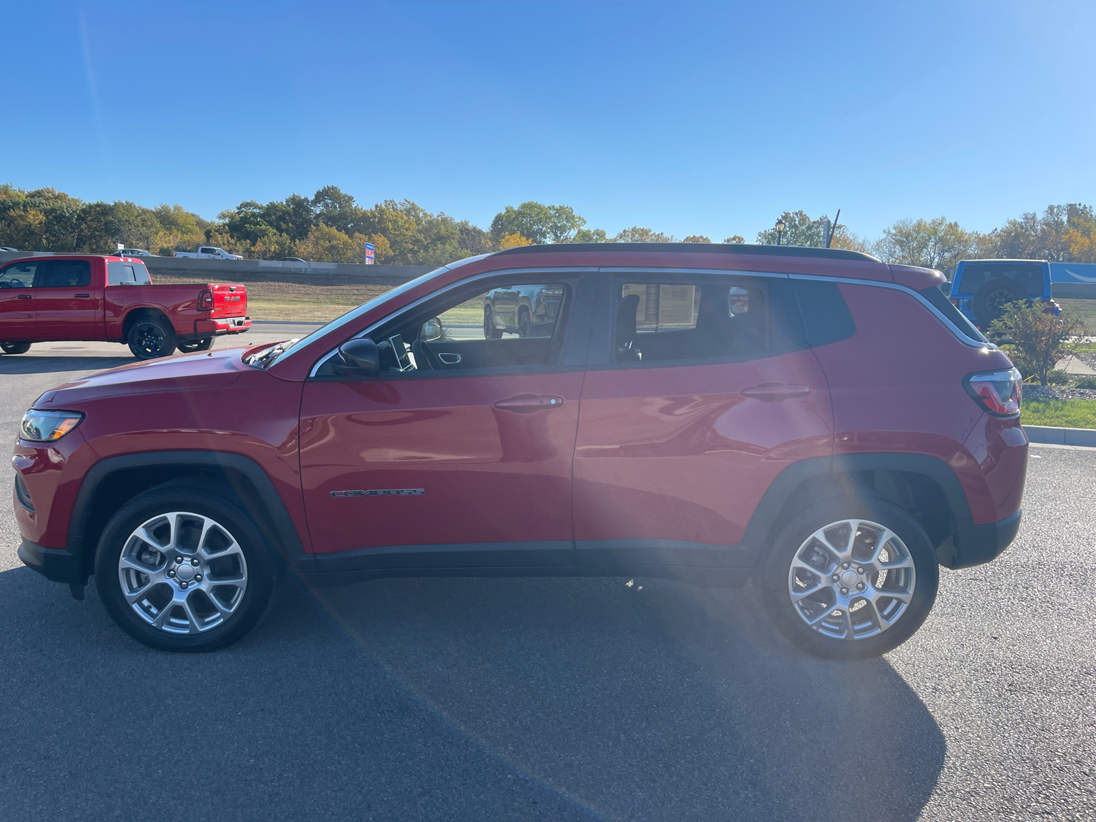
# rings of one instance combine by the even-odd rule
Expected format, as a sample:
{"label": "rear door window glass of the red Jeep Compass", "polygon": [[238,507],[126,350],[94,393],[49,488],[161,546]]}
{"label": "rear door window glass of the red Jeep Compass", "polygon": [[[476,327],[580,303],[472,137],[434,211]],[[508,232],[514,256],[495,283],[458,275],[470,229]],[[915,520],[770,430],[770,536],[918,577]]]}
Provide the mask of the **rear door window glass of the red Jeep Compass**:
{"label": "rear door window glass of the red Jeep Compass", "polygon": [[752,358],[804,345],[787,281],[717,276],[618,282],[617,363]]}

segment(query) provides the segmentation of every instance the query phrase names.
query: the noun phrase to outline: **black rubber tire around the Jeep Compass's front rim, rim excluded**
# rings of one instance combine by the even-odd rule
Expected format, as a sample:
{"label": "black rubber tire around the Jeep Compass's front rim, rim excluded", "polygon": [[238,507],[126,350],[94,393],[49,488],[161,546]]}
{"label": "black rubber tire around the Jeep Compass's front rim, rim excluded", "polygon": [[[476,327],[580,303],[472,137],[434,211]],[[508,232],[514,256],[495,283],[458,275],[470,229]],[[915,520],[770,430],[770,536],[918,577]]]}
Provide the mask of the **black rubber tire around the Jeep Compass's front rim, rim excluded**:
{"label": "black rubber tire around the Jeep Compass's front rim, rim excluded", "polygon": [[[170,511],[215,520],[235,537],[248,566],[248,586],[237,610],[221,625],[201,633],[173,635],[153,628],[126,603],[118,581],[118,557],[130,534],[141,523]],[[152,490],[133,499],[107,522],[95,550],[95,587],[106,612],[138,642],[164,651],[213,651],[239,640],[266,612],[275,573],[271,549],[250,517],[235,505],[192,488]]]}

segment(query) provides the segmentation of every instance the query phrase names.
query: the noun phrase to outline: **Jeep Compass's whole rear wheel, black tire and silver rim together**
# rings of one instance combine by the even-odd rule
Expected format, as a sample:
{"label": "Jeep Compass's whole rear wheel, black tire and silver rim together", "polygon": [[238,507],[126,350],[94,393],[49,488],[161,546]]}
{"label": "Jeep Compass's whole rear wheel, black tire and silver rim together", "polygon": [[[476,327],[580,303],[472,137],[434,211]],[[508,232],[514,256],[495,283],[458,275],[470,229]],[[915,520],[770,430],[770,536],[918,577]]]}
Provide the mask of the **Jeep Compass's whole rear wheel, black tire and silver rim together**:
{"label": "Jeep Compass's whole rear wheel, black tire and silver rim together", "polygon": [[875,496],[815,504],[780,533],[761,571],[780,632],[832,660],[898,648],[936,601],[928,536],[904,509]]}

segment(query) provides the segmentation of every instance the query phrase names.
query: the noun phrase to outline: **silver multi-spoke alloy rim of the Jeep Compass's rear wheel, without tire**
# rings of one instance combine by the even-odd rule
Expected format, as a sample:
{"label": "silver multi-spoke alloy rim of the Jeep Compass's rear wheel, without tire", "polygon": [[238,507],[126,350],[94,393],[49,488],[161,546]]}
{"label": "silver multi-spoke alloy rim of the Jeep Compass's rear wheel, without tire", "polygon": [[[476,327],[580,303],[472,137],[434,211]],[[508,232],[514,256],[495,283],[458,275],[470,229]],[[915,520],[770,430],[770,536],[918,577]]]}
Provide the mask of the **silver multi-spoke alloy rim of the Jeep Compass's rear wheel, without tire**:
{"label": "silver multi-spoke alloy rim of the Jeep Compass's rear wheel, without tire", "polygon": [[910,606],[915,582],[905,544],[867,520],[819,528],[799,546],[788,569],[796,613],[835,639],[864,639],[890,628]]}

